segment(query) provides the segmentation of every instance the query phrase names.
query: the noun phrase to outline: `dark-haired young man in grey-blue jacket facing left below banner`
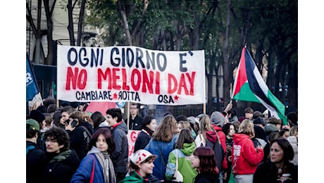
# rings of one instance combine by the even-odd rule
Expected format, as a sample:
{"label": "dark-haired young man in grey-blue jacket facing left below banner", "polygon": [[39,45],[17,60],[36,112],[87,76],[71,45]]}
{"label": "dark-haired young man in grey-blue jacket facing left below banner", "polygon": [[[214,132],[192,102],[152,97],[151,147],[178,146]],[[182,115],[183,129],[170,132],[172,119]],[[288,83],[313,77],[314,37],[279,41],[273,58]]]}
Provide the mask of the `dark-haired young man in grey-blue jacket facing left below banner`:
{"label": "dark-haired young man in grey-blue jacket facing left below banner", "polygon": [[113,140],[116,144],[116,150],[111,153],[111,160],[113,161],[116,181],[120,182],[125,178],[127,172],[127,125],[123,122],[123,114],[121,113],[120,108],[109,108],[106,111],[106,118],[106,122],[111,130],[111,134],[113,134]]}

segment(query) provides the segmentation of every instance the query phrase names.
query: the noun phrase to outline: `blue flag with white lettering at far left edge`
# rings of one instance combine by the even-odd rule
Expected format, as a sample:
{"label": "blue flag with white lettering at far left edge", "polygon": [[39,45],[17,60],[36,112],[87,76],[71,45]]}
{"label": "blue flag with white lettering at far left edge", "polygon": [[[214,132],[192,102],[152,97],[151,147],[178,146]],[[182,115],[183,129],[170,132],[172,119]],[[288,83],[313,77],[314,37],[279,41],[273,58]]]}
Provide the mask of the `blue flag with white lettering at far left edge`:
{"label": "blue flag with white lettering at far left edge", "polygon": [[26,102],[32,100],[38,93],[37,81],[30,66],[30,60],[26,55]]}

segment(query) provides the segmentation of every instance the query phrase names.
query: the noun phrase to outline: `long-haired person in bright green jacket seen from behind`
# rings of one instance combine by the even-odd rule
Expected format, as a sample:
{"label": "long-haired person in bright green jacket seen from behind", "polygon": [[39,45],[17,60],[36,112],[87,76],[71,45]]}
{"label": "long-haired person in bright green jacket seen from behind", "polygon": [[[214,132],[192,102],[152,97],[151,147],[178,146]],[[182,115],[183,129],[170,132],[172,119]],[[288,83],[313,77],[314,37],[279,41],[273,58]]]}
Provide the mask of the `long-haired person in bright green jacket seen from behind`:
{"label": "long-haired person in bright green jacket seen from behind", "polygon": [[189,157],[194,153],[195,146],[191,130],[182,129],[175,144],[175,150],[169,153],[168,164],[166,165],[166,179],[173,178],[177,161],[177,170],[183,176],[183,182],[192,182],[194,177],[197,176],[197,170],[192,168]]}

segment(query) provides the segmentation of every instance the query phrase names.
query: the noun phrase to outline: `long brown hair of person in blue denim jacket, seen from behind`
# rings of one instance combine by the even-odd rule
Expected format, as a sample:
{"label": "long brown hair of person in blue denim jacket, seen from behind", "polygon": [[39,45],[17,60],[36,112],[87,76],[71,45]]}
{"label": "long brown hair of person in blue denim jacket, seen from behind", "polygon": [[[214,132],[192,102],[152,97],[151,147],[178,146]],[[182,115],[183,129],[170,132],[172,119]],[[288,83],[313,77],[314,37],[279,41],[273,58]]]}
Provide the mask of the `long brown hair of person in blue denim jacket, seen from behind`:
{"label": "long brown hair of person in blue denim jacket, seen from behind", "polygon": [[176,130],[176,124],[177,121],[173,115],[166,115],[161,125],[159,125],[152,134],[152,138],[156,141],[171,141]]}

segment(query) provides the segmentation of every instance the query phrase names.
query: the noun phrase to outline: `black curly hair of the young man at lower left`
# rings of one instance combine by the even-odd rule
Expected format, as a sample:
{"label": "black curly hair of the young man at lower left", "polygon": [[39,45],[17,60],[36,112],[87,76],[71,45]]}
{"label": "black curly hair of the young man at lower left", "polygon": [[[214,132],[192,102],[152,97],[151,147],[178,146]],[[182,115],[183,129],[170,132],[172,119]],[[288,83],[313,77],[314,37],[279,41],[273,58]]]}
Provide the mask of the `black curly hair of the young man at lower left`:
{"label": "black curly hair of the young man at lower left", "polygon": [[56,140],[59,146],[64,145],[60,149],[61,152],[70,149],[70,137],[68,136],[68,132],[61,127],[52,127],[50,130],[44,132],[44,140],[45,139]]}

